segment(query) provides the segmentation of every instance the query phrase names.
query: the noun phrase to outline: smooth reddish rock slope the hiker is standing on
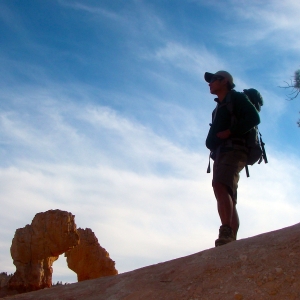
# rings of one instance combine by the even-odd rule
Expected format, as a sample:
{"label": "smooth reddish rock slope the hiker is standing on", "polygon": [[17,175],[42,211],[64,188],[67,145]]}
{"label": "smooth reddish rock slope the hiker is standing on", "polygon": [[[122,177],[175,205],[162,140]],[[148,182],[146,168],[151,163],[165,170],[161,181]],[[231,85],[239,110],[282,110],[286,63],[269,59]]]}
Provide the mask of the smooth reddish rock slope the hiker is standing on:
{"label": "smooth reddish rock slope the hiker is standing on", "polygon": [[18,300],[300,299],[300,224],[117,276]]}

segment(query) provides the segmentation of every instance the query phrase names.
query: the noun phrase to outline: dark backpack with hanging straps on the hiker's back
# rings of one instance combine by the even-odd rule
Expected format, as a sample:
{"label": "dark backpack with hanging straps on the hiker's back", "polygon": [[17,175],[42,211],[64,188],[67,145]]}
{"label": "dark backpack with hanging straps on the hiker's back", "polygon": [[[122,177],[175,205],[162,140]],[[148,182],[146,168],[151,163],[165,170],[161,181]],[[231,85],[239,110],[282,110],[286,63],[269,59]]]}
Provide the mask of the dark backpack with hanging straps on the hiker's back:
{"label": "dark backpack with hanging straps on the hiker's back", "polygon": [[[261,106],[263,106],[263,98],[261,94],[256,89],[244,89],[244,95],[250,100],[254,105],[256,110],[260,112]],[[230,97],[230,96],[229,96]],[[229,98],[230,99],[230,98]],[[227,109],[229,110],[234,122],[233,114],[233,101],[229,100],[227,104]],[[245,134],[246,147],[248,149],[247,164],[245,166],[247,177],[249,177],[248,165],[253,165],[256,162],[260,164],[263,160],[268,163],[267,154],[265,151],[265,143],[262,140],[262,134],[258,130],[258,126],[253,127],[250,131]]]}

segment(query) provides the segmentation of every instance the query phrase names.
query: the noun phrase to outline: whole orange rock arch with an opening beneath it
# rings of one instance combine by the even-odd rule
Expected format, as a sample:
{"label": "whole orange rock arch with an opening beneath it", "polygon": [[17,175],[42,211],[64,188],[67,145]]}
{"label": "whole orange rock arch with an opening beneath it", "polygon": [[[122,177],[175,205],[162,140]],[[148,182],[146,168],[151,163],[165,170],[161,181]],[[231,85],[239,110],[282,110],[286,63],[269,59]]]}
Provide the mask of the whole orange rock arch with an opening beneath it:
{"label": "whole orange rock arch with an opening beneath it", "polygon": [[77,230],[75,216],[58,209],[38,213],[30,225],[17,229],[10,252],[16,272],[8,288],[18,292],[51,287],[52,265],[63,253],[79,281],[118,273],[91,229]]}

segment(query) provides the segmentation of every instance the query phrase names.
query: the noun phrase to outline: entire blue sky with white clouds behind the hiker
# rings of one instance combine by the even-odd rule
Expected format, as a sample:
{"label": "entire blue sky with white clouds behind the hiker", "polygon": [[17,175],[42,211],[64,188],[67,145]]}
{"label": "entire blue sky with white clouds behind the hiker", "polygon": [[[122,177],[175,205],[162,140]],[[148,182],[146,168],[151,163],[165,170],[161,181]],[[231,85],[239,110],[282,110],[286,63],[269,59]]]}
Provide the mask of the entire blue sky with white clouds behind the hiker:
{"label": "entire blue sky with white clouds behind the hiker", "polygon": [[[299,222],[297,1],[0,2],[0,271],[17,228],[61,209],[91,228],[120,273],[214,246],[206,174],[225,69],[265,101],[269,164],[241,174],[239,238]],[[53,280],[76,281],[64,257]]]}

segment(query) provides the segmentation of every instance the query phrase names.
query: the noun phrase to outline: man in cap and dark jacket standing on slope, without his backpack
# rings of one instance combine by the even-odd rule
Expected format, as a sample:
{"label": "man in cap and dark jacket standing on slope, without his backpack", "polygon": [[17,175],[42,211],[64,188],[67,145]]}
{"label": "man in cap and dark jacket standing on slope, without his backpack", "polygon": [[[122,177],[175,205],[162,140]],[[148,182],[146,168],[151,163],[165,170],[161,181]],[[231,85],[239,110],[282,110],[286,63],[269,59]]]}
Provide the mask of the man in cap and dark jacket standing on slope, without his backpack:
{"label": "man in cap and dark jacket standing on slope, without his backpack", "polygon": [[[247,163],[245,134],[260,123],[260,118],[249,99],[233,90],[235,84],[231,74],[206,72],[204,78],[209,83],[210,93],[218,97],[206,139],[206,147],[214,159],[212,186],[222,223],[215,241],[217,247],[236,240],[239,172]],[[228,105],[232,105],[231,111]]]}

